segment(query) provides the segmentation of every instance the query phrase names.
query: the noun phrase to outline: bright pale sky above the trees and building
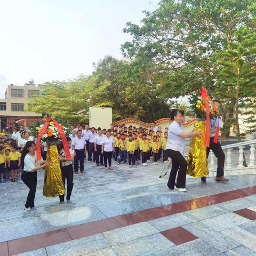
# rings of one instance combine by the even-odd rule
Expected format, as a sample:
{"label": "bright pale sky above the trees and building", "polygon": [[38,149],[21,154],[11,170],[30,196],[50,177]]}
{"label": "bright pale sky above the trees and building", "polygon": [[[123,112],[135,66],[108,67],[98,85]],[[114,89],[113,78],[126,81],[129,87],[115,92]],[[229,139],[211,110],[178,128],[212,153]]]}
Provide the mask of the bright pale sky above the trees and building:
{"label": "bright pale sky above the trees and building", "polygon": [[73,79],[90,74],[92,62],[110,54],[122,58],[127,21],[159,0],[1,1],[0,97],[8,84]]}

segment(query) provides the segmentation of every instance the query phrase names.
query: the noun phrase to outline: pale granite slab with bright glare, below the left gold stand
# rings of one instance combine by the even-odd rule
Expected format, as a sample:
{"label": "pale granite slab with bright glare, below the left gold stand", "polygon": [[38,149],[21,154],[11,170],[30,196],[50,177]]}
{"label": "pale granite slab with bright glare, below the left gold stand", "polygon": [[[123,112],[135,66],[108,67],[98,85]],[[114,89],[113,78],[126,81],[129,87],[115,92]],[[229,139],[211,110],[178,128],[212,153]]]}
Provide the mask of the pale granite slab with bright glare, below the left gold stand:
{"label": "pale granite slab with bright glare, below the left gold stand", "polygon": [[81,223],[102,220],[105,219],[106,216],[95,208],[95,206],[84,206],[66,211],[42,214],[40,218],[47,230],[55,230]]}

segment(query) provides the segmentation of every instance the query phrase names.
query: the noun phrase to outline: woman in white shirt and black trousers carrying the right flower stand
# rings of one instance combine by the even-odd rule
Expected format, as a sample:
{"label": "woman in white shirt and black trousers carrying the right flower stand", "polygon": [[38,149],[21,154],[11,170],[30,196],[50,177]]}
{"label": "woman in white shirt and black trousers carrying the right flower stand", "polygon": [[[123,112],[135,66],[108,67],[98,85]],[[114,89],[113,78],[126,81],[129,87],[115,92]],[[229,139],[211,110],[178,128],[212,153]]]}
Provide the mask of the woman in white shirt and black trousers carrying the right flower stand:
{"label": "woman in white shirt and black trousers carrying the right flower stand", "polygon": [[172,159],[172,169],[167,186],[175,189],[175,178],[178,173],[176,188],[182,192],[186,192],[186,171],[187,161],[183,157],[183,149],[185,138],[202,135],[201,132],[184,132],[184,111],[173,109],[171,112],[171,120],[173,121],[168,130],[168,139],[166,144],[167,156]]}

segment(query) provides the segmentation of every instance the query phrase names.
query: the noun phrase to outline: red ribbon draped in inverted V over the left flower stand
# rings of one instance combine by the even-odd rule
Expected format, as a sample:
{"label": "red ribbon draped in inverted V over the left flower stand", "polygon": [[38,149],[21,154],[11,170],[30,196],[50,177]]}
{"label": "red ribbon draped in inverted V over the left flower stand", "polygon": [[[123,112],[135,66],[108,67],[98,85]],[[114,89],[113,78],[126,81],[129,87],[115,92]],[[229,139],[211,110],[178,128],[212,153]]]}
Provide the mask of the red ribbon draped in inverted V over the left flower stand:
{"label": "red ribbon draped in inverted V over the left flower stand", "polygon": [[[36,159],[37,159],[37,161],[41,160],[41,157],[42,157],[40,141],[41,141],[44,133],[47,131],[47,127],[49,125],[49,122],[51,121],[50,117],[47,117],[45,119],[46,119],[46,122],[44,123],[44,126],[40,129],[40,131],[37,135],[37,140],[36,140]],[[53,123],[54,123],[55,127],[57,127],[59,134],[61,136],[66,157],[71,158],[71,155],[69,152],[69,147],[68,147],[68,141],[67,141],[65,132],[63,131],[62,127],[58,124],[58,122],[56,120],[53,119]]]}

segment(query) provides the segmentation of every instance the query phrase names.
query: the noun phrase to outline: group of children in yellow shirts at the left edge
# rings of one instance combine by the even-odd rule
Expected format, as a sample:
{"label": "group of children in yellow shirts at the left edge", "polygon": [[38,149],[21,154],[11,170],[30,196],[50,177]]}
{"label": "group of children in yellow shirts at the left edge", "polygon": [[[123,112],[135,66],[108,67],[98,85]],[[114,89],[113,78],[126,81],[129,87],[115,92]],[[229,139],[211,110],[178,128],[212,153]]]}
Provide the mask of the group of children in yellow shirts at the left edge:
{"label": "group of children in yellow shirts at the left edge", "polygon": [[14,139],[0,138],[0,183],[5,183],[5,179],[17,182],[20,169],[21,147],[17,146]]}

